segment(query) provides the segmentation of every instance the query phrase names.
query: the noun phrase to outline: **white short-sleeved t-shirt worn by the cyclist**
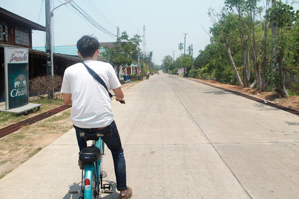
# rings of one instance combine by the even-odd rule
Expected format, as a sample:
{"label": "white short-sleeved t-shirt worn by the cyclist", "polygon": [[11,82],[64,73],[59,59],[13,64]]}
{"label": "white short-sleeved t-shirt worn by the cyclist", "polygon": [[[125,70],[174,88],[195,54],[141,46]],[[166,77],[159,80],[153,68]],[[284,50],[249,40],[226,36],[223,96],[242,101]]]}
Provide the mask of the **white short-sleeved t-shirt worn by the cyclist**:
{"label": "white short-sleeved t-shirt worn by the cyclist", "polygon": [[[111,64],[92,60],[84,63],[102,78],[108,91],[121,87]],[[82,63],[65,70],[61,93],[72,94],[71,118],[75,126],[99,128],[108,126],[114,120],[108,92],[88,73]]]}

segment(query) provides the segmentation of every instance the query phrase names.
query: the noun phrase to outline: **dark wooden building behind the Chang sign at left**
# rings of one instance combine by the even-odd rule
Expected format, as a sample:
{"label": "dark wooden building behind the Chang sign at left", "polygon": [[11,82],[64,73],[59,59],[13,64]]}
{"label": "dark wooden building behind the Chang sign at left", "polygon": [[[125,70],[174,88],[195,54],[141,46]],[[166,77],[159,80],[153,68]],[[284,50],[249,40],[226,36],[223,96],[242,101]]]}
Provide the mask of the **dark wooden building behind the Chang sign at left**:
{"label": "dark wooden building behind the Chang sign at left", "polygon": [[[46,53],[32,49],[32,30],[46,31],[46,27],[0,7],[0,101],[4,101],[4,47],[28,48],[29,80],[47,74]],[[53,54],[54,70],[63,76],[64,70],[81,61],[79,56]]]}

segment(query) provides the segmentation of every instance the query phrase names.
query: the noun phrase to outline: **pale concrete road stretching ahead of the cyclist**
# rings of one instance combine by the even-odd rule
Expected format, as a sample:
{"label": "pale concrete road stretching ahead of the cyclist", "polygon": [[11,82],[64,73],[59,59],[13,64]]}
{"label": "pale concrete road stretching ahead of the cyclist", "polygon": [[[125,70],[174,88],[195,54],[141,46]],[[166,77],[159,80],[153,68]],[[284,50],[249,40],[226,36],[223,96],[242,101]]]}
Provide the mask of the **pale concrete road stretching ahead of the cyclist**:
{"label": "pale concrete road stretching ahead of the cyclist", "polygon": [[[134,199],[299,198],[299,116],[166,74],[125,95],[113,111]],[[77,199],[77,153],[72,129],[2,178],[0,198]]]}

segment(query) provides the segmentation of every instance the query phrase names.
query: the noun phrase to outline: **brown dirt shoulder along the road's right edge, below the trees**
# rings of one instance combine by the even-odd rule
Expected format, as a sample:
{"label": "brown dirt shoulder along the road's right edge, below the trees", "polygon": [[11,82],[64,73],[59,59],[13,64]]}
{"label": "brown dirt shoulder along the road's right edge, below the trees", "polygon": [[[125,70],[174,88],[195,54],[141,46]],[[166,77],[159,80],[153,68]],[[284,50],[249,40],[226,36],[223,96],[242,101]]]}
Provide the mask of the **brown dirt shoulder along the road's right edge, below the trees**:
{"label": "brown dirt shoulder along the road's right edge, below the trees", "polygon": [[194,78],[188,78],[188,79],[195,80],[198,82],[208,83],[208,84],[218,86],[218,87],[221,87],[224,89],[237,91],[240,93],[254,96],[254,97],[262,99],[262,100],[267,100],[267,102],[276,103],[278,105],[281,105],[281,106],[284,106],[287,108],[299,110],[299,96],[293,96],[290,98],[281,98],[278,94],[275,94],[272,92],[261,92],[256,89],[244,88],[244,87],[233,86],[233,85],[228,85],[228,84],[221,84],[219,82],[212,81],[212,80],[200,80],[200,79],[194,79]]}

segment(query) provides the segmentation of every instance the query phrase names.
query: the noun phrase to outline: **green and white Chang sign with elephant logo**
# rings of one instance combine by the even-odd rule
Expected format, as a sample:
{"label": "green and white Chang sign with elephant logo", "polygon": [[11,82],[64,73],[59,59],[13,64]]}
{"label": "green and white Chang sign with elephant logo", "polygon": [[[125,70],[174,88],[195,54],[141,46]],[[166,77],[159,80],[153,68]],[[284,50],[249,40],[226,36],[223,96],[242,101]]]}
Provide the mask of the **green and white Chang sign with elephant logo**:
{"label": "green and white Chang sign with elephant logo", "polygon": [[5,109],[28,104],[28,49],[4,47]]}

